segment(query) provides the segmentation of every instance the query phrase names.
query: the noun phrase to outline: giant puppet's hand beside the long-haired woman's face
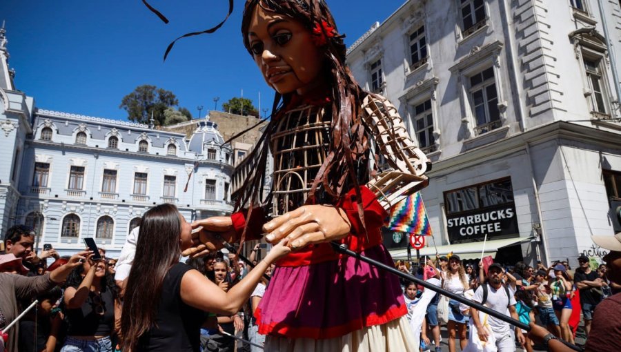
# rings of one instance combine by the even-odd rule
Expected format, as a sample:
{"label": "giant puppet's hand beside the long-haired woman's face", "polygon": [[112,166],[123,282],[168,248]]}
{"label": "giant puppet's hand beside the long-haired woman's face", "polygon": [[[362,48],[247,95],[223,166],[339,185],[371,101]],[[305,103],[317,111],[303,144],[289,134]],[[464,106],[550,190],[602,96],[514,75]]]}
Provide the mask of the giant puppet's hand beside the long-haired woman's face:
{"label": "giant puppet's hand beside the long-haired woman's face", "polygon": [[192,246],[181,253],[184,257],[202,257],[223,248],[224,244],[217,235],[226,242],[235,241],[235,228],[230,217],[216,216],[198,220],[192,223],[192,229],[197,231],[192,233]]}

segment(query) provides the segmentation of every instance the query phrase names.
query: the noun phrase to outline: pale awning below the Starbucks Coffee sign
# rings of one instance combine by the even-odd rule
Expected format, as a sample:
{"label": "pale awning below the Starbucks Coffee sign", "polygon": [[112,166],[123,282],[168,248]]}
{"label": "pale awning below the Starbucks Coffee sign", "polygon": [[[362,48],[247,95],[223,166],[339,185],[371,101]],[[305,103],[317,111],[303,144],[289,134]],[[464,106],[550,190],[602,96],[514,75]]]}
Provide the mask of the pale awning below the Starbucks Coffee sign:
{"label": "pale awning below the Starbucks Coffee sign", "polygon": [[[500,248],[513,246],[514,244],[519,244],[522,242],[530,241],[533,237],[515,237],[515,238],[505,238],[505,239],[493,239],[491,241],[485,242],[485,253],[483,256],[492,255],[494,256],[496,252]],[[435,256],[435,247],[431,242],[431,238],[427,239],[427,246],[420,250],[420,255],[429,255]],[[453,254],[457,254],[460,256],[462,260],[464,259],[480,259],[481,251],[483,249],[483,242],[470,242],[470,243],[460,243],[460,244],[449,244],[446,246],[437,246],[437,253],[439,255],[447,255],[451,252]],[[408,258],[408,251],[406,249],[393,249],[390,251],[393,260],[406,260]],[[416,250],[412,249],[412,257],[416,257]]]}

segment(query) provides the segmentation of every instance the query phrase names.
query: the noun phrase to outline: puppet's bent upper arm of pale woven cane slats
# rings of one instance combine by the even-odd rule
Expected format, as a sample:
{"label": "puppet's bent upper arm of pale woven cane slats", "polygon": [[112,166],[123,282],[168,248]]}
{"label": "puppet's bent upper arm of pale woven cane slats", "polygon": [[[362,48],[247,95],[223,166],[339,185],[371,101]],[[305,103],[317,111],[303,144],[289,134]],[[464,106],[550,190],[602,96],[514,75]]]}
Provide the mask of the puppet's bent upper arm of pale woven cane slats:
{"label": "puppet's bent upper arm of pale woven cane slats", "polygon": [[391,170],[382,171],[366,185],[388,211],[409,195],[424,188],[428,159],[408,135],[397,108],[388,99],[368,95],[362,106],[364,123]]}

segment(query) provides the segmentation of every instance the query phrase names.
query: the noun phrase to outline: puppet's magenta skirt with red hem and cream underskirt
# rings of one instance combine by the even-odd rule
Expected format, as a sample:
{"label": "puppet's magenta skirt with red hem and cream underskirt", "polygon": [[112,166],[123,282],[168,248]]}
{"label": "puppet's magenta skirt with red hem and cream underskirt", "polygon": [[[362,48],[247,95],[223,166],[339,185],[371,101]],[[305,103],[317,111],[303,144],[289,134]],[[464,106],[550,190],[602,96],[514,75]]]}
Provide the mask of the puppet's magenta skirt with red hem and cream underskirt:
{"label": "puppet's magenta skirt with red hem and cream underskirt", "polygon": [[[394,265],[382,244],[361,254]],[[281,349],[284,346],[280,344],[299,344],[300,348],[310,344],[311,350],[333,351],[324,344],[411,340],[411,332],[404,329],[407,320],[401,319],[405,314],[398,278],[348,256],[318,264],[277,267],[255,311],[259,333],[268,335],[270,344],[277,344],[268,351],[288,350]]]}

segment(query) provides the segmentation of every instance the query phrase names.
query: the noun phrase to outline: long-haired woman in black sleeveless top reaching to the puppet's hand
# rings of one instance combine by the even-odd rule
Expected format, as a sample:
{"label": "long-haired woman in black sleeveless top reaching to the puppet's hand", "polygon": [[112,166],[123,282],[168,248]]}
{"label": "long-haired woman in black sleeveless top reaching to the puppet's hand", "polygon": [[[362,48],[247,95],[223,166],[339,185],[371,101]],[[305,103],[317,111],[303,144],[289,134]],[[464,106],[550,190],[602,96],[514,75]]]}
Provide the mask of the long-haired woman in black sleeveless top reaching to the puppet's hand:
{"label": "long-haired woman in black sleeveless top reaching to the puppet's hand", "polygon": [[181,251],[193,245],[191,231],[172,204],[144,213],[124,295],[123,351],[199,351],[205,312],[237,313],[266,268],[290,252],[286,241],[280,242],[244,280],[224,292],[179,263]]}

